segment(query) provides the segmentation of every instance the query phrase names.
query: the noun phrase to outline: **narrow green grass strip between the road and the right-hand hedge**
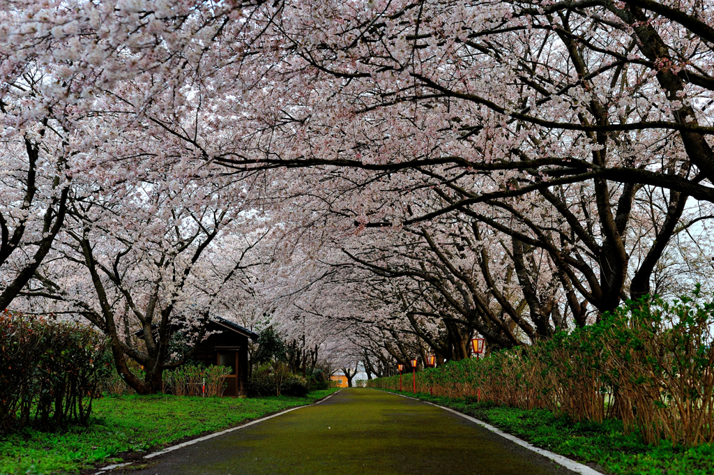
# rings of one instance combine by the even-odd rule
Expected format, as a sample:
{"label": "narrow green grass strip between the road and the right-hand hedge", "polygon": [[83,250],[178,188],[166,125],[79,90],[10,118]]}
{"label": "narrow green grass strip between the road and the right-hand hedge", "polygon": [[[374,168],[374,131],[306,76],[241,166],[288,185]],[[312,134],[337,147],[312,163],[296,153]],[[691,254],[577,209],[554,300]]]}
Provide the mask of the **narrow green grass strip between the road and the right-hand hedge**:
{"label": "narrow green grass strip between the road and the right-hand hedge", "polygon": [[[391,392],[414,396],[411,391]],[[620,421],[576,423],[543,409],[526,411],[428,394],[416,396],[481,419],[535,446],[595,466],[605,473],[714,474],[714,444],[682,449],[664,441],[658,446],[648,446],[636,433],[625,435]]]}

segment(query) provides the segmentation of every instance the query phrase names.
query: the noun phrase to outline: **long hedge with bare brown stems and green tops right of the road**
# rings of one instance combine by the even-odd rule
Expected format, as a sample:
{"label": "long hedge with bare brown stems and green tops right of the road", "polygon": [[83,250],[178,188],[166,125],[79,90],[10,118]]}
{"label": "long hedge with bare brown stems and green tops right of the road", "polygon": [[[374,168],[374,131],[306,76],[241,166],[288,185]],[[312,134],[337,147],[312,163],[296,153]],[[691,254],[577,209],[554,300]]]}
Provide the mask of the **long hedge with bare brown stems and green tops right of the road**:
{"label": "long hedge with bare brown stems and green tops right of the road", "polygon": [[[694,297],[628,301],[600,323],[550,341],[417,373],[417,391],[575,421],[617,418],[647,443],[714,441],[714,304]],[[405,375],[404,389],[411,389]],[[398,376],[369,386],[398,389]]]}

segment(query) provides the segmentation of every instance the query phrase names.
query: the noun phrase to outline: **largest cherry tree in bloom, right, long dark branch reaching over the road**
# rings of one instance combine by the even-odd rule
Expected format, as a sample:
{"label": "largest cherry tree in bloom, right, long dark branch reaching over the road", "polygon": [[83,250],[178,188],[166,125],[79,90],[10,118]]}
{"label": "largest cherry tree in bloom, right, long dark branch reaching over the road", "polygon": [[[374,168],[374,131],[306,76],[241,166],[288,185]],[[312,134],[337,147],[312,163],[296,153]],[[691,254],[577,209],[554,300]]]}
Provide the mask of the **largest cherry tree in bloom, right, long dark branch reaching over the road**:
{"label": "largest cherry tree in bloom, right, long dark branch reaching over the road", "polygon": [[[694,108],[710,96],[710,51],[697,17],[706,14],[648,21],[628,2],[534,5],[286,6],[276,23],[281,43],[271,48],[282,46],[293,66],[279,77],[298,99],[274,101],[272,114],[256,117],[271,134],[258,141],[266,158],[254,162],[325,166],[344,179],[352,176],[330,166],[373,171],[363,183],[405,171],[411,183],[402,189],[433,189],[440,206],[405,216],[384,211],[380,196],[371,207],[381,211],[355,213],[359,225],[468,214],[547,251],[583,324],[585,305],[602,313],[628,291],[647,294],[687,196],[710,199],[700,184],[710,117]],[[694,31],[694,44],[681,46]],[[261,88],[251,98],[282,93]],[[250,160],[225,161],[250,169]],[[630,272],[633,206],[653,187],[670,190],[668,204]],[[509,201],[525,195],[520,208]],[[543,232],[524,209],[533,202],[562,232]],[[504,223],[514,220],[516,227]]]}

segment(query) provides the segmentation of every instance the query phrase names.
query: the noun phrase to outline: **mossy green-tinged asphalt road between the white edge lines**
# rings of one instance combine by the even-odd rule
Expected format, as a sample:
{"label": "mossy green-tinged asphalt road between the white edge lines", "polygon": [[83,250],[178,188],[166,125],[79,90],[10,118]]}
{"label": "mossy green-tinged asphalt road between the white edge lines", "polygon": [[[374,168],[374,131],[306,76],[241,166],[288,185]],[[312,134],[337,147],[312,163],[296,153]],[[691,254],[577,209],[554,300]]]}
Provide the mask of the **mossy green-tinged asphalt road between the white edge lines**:
{"label": "mossy green-tinged asphalt road between the white edge lines", "polygon": [[572,474],[463,417],[374,389],[152,459],[133,474]]}

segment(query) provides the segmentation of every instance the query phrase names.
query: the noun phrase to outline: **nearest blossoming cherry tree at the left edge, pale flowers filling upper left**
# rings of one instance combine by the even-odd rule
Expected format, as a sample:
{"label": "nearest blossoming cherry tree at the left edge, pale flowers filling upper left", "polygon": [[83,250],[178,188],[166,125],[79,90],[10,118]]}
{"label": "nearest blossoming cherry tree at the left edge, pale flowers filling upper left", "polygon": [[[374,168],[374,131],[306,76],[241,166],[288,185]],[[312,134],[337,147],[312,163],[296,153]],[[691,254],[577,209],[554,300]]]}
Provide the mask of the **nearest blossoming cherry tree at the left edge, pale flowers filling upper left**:
{"label": "nearest blossoming cherry tree at the left edge, pale flowers filling upper left", "polygon": [[[119,98],[122,109],[114,109],[114,125],[133,128],[137,114],[156,101],[164,86],[181,89],[195,81],[202,68],[211,69],[206,59],[216,65],[218,57],[206,55],[206,48],[227,19],[236,20],[234,34],[253,38],[239,18],[245,6],[214,1],[0,2],[0,308],[11,303],[48,254],[64,223],[71,178],[93,166],[87,157],[112,133],[110,124],[104,127],[96,120],[109,104],[98,104],[97,97]],[[144,86],[156,82],[139,95],[127,84],[132,80]],[[134,94],[118,96],[121,90]],[[126,156],[122,152],[115,158]]]}

